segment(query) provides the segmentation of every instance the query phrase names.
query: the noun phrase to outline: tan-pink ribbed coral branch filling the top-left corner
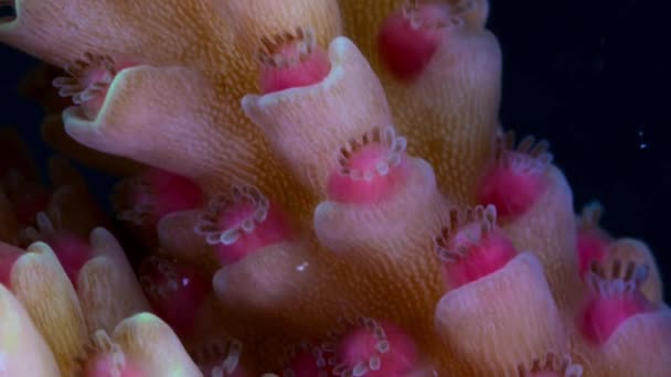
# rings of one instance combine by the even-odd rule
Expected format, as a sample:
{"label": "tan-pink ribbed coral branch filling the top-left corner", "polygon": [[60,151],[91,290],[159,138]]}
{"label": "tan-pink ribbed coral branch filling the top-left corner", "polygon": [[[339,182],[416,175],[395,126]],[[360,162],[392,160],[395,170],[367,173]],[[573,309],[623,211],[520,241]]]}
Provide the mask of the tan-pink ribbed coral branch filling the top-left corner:
{"label": "tan-pink ribbed coral branch filling the top-left corner", "polygon": [[214,67],[207,56],[214,49],[212,40],[202,35],[216,40],[228,32],[213,28],[225,24],[223,15],[202,2],[13,2],[17,17],[0,20],[0,41],[62,67],[85,52],[142,57],[142,62],[153,64],[189,61]]}

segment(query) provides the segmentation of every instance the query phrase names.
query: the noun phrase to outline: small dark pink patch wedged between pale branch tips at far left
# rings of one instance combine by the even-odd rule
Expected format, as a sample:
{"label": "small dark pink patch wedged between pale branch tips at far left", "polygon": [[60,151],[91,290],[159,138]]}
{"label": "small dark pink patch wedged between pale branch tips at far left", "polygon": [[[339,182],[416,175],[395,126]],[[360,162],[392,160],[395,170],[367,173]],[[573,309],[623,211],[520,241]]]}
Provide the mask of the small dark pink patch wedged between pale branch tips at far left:
{"label": "small dark pink patch wedged between pale branch tips at far left", "polygon": [[93,257],[88,243],[67,233],[57,234],[45,241],[58,258],[72,284],[76,287],[79,270]]}

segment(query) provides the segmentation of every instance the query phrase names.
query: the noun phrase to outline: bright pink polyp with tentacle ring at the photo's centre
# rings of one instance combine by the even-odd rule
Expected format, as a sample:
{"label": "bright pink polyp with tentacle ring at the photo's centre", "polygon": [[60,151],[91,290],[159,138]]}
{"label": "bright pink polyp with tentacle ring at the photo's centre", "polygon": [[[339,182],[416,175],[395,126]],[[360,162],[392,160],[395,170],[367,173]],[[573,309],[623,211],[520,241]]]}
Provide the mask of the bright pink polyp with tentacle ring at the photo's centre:
{"label": "bright pink polyp with tentacle ring at the photo's centre", "polygon": [[390,166],[388,153],[387,147],[369,144],[350,155],[347,166],[339,168],[329,179],[329,198],[340,203],[377,204],[392,196],[403,185],[408,164],[401,158],[397,166]]}

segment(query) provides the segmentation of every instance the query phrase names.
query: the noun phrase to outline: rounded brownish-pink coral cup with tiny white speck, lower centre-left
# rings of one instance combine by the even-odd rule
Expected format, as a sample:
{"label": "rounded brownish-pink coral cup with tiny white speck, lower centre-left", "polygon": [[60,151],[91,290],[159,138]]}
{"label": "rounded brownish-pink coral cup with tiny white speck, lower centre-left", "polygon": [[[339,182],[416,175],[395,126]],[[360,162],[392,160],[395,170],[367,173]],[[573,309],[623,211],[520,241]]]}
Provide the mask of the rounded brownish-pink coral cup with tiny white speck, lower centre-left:
{"label": "rounded brownish-pink coral cup with tiny white speck, lower centre-left", "polygon": [[267,327],[290,328],[295,342],[321,335],[347,314],[342,304],[348,291],[343,277],[312,250],[306,241],[278,243],[222,268],[213,280],[220,301],[247,321],[266,319]]}

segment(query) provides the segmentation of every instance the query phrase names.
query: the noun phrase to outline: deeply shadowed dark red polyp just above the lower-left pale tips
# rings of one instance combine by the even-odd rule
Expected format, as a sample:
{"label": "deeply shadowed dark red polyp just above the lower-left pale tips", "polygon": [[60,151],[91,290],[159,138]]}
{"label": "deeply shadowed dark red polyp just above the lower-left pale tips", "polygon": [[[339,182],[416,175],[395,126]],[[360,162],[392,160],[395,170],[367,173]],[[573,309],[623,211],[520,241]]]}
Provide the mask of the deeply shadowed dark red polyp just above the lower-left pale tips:
{"label": "deeply shadowed dark red polyp just above the lower-left pale tips", "polygon": [[190,333],[205,297],[209,279],[196,268],[158,257],[140,267],[140,283],[157,315],[178,335]]}

